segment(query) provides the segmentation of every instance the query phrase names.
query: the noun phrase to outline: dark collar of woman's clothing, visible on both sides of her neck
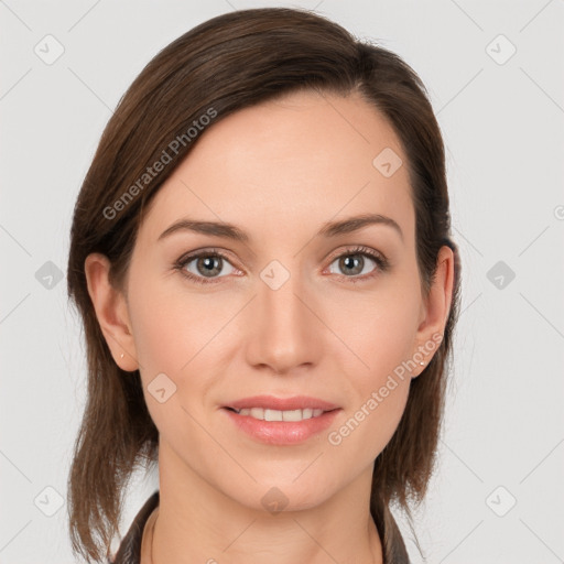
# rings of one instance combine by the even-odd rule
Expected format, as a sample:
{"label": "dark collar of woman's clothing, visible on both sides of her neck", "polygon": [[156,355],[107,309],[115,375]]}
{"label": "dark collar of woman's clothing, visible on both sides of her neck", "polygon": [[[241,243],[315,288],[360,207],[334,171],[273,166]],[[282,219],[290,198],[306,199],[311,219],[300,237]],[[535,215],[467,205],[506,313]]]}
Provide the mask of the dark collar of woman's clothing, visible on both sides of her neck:
{"label": "dark collar of woman's clothing, visible on both sides of her neck", "polygon": [[[115,560],[108,561],[108,564],[140,564],[144,525],[158,505],[159,490],[140,509],[129,531],[123,536]],[[390,511],[379,512],[376,516],[376,524],[382,542],[383,564],[410,564],[405,544]]]}

